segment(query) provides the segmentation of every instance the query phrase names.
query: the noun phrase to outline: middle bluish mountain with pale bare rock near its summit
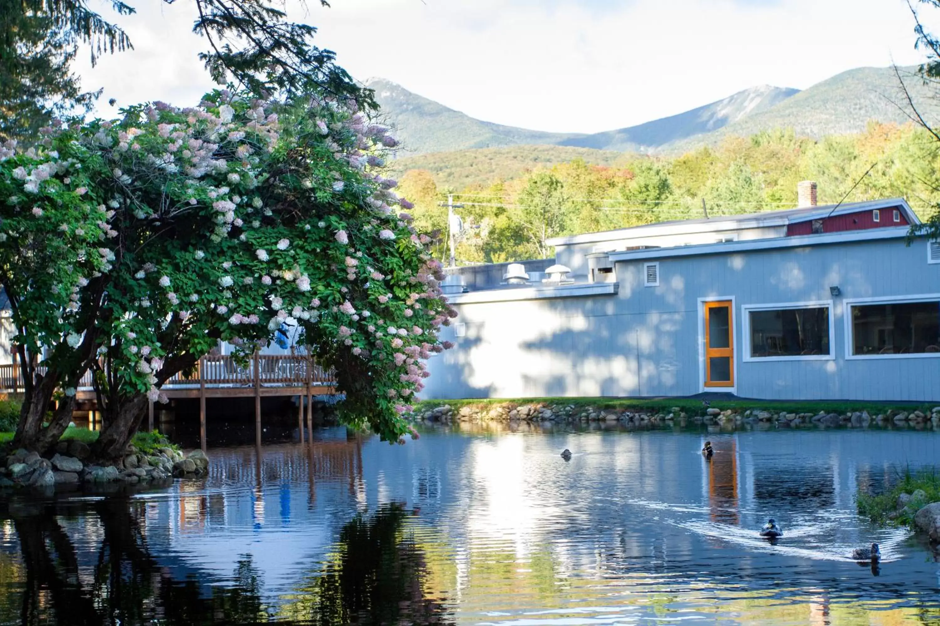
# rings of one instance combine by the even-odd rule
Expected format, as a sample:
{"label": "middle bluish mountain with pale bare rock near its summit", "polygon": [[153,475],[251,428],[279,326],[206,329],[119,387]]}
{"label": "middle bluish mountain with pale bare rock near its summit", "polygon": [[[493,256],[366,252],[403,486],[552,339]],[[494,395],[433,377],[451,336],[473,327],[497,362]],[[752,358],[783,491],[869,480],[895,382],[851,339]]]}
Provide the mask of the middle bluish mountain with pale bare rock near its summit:
{"label": "middle bluish mountain with pale bare rock near its summit", "polygon": [[646,152],[689,137],[723,129],[729,124],[772,109],[798,93],[799,89],[772,87],[765,84],[739,91],[729,98],[679,115],[670,115],[626,129],[572,137],[560,142],[560,145],[577,145],[620,152]]}

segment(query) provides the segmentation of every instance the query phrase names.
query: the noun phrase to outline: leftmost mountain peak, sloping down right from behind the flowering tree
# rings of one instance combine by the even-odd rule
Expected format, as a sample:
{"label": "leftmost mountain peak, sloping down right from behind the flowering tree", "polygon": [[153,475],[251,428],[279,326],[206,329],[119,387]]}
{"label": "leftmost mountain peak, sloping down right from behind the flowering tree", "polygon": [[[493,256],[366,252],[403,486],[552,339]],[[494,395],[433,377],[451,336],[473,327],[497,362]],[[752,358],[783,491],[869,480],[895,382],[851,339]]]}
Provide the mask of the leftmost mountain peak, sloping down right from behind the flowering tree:
{"label": "leftmost mountain peak, sloping down right from behind the flowering tree", "polygon": [[406,155],[505,145],[557,145],[581,136],[483,122],[382,78],[370,78],[365,84],[375,90],[375,99],[387,122],[395,127]]}

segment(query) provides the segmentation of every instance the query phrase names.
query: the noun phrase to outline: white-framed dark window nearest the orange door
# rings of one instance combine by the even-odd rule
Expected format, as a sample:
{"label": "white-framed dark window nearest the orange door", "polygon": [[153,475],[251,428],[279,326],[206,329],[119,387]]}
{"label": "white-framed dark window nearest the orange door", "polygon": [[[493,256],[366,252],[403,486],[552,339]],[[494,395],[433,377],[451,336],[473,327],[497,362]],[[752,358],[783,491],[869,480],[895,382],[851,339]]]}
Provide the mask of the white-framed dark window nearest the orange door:
{"label": "white-framed dark window nearest the orange door", "polygon": [[832,359],[831,304],[745,306],[745,359]]}

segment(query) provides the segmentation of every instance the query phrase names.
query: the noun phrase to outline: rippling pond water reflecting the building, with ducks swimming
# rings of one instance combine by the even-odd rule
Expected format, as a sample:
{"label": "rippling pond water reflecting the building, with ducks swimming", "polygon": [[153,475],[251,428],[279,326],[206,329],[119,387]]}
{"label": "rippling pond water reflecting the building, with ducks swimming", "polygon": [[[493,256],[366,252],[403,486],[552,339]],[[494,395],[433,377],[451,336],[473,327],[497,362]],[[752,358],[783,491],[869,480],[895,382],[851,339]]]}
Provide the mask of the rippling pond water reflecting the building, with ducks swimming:
{"label": "rippling pond water reflecting the building, with ducks swimming", "polygon": [[[854,496],[938,453],[930,432],[324,429],[210,450],[164,490],[0,500],[0,623],[936,623],[930,547]],[[847,558],[872,541],[880,569]]]}

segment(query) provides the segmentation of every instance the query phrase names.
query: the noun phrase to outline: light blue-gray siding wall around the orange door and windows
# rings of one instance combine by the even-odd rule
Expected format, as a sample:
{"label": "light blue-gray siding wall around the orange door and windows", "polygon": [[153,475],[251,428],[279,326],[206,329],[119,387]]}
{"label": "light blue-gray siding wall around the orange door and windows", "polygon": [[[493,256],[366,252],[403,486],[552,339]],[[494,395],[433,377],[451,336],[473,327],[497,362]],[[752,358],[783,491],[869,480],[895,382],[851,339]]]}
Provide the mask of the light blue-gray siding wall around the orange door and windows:
{"label": "light blue-gray siding wall around the orange door and windows", "polygon": [[[845,359],[845,298],[940,293],[940,265],[927,264],[924,241],[664,258],[658,287],[643,286],[642,269],[643,261],[617,264],[617,295],[458,305],[465,335],[445,329],[457,345],[431,359],[421,397],[696,394],[698,298],[728,297],[740,396],[940,400],[940,358]],[[743,360],[743,305],[830,299],[835,360]]]}

